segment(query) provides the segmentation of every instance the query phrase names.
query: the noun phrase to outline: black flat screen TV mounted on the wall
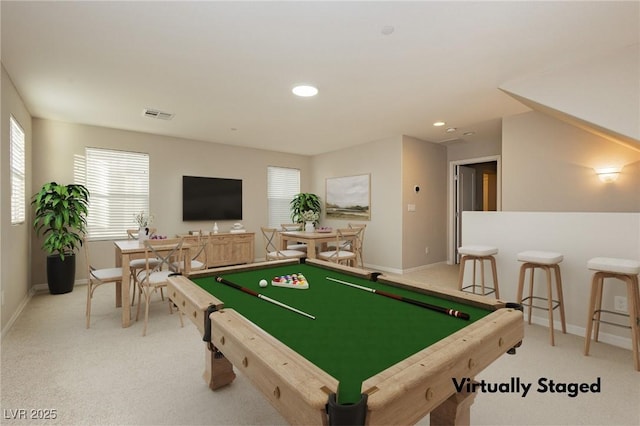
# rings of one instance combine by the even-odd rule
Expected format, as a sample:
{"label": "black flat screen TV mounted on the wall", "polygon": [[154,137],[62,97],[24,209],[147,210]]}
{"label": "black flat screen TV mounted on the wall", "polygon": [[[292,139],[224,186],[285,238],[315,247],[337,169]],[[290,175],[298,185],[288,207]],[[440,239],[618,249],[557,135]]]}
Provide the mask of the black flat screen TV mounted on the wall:
{"label": "black flat screen TV mounted on the wall", "polygon": [[242,180],[182,176],[182,220],[242,220]]}

